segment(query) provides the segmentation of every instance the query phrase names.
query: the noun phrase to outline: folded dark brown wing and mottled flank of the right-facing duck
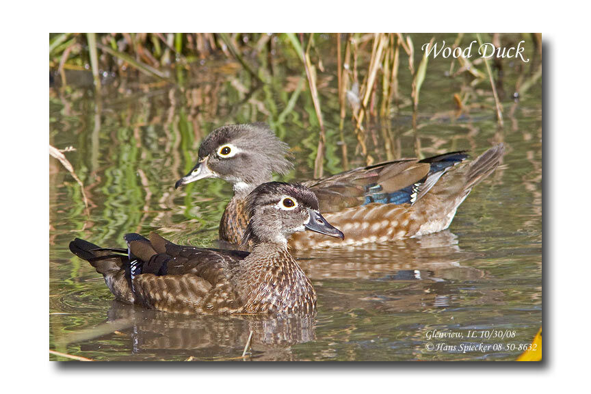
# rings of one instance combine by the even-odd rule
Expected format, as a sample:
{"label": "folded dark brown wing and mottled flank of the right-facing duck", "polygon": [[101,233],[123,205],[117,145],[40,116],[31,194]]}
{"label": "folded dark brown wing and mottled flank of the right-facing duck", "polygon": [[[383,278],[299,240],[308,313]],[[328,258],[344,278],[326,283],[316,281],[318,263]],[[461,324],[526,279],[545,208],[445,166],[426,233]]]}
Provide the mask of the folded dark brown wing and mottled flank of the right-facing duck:
{"label": "folded dark brown wing and mottled flank of the right-facing duck", "polygon": [[248,252],[180,246],[155,233],[125,240],[135,302],[174,313],[240,310],[233,275]]}

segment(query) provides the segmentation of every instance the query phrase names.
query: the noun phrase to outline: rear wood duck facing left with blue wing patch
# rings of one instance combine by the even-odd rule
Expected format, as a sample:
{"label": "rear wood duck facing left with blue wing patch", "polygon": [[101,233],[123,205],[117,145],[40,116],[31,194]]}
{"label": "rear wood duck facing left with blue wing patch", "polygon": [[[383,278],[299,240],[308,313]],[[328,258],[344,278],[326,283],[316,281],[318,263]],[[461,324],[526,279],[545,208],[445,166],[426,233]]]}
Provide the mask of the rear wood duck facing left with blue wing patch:
{"label": "rear wood duck facing left with blue wing patch", "polygon": [[[504,150],[503,144],[493,146],[469,163],[464,151],[388,161],[303,185],[316,194],[328,221],[345,233],[341,245],[415,237],[447,228],[472,187],[497,168]],[[233,183],[220,239],[239,244],[248,224],[245,197],[273,172],[291,168],[287,145],[267,124],[232,124],[207,135],[196,165],[175,187],[212,177]],[[294,234],[289,243],[296,250],[332,245],[332,239],[307,233]]]}

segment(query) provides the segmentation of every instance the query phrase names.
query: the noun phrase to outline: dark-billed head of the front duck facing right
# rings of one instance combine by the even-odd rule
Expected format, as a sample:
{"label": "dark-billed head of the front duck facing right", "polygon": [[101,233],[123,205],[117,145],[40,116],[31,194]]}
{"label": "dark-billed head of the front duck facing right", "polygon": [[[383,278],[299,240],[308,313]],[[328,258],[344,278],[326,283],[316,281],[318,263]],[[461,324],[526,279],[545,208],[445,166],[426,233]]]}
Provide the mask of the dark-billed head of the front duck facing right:
{"label": "dark-billed head of the front duck facing right", "polygon": [[259,185],[246,198],[248,226],[242,243],[287,245],[291,234],[306,229],[339,237],[319,212],[316,195],[298,183],[269,182]]}

